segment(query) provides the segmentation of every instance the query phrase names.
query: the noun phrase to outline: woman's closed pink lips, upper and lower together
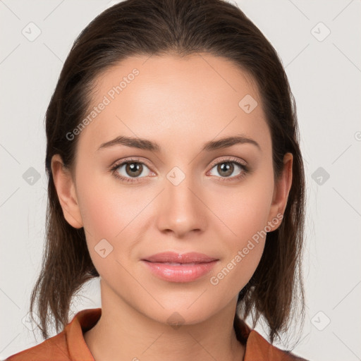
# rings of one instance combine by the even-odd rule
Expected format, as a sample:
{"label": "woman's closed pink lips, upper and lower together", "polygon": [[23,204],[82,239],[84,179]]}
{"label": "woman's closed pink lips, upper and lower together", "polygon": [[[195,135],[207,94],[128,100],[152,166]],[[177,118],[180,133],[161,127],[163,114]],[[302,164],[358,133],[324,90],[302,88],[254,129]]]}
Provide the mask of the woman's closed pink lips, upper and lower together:
{"label": "woman's closed pink lips, upper and lower together", "polygon": [[142,259],[142,263],[149,271],[152,271],[152,274],[165,281],[177,283],[199,279],[209,273],[218,261],[219,259],[198,252],[189,252],[183,255],[176,252],[162,252]]}

